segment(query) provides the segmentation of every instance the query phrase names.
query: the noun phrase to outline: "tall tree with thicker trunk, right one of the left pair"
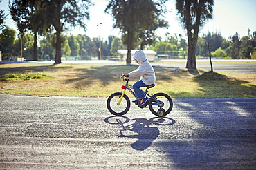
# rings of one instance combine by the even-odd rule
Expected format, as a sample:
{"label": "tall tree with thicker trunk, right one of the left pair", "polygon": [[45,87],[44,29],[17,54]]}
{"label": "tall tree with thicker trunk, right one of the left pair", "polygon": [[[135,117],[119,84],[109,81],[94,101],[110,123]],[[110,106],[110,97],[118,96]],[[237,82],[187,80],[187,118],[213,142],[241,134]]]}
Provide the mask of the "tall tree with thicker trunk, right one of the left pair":
{"label": "tall tree with thicker trunk, right one of the left pair", "polygon": [[48,22],[53,25],[56,33],[56,54],[55,64],[62,63],[62,41],[61,33],[67,29],[64,27],[65,23],[69,23],[71,27],[80,25],[85,29],[84,18],[89,19],[88,8],[91,5],[90,0],[58,0],[58,1],[46,1],[47,19]]}

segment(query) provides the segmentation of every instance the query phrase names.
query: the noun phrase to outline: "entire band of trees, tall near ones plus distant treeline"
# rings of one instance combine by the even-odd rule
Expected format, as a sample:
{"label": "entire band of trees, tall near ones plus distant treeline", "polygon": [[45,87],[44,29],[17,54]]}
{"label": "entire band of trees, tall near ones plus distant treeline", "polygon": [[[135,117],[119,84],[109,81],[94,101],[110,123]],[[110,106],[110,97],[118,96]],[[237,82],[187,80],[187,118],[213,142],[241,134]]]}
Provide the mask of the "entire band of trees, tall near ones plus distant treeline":
{"label": "entire band of trees, tall near ones plus distant treeline", "polygon": [[[136,49],[137,47],[144,49],[149,45],[153,45],[152,48],[156,48],[157,43],[158,46],[161,46],[161,42],[156,41],[155,30],[168,26],[167,21],[162,17],[162,14],[166,12],[164,6],[166,1],[109,1],[105,12],[111,14],[114,21],[116,21],[113,27],[119,28],[120,32],[122,32],[121,40],[128,51],[127,63],[131,63],[131,49]],[[211,54],[214,50],[214,45],[218,46],[212,43],[215,36],[219,38],[218,34],[209,33],[199,37],[200,28],[208,19],[212,19],[213,5],[213,0],[176,0],[176,10],[180,23],[187,31],[188,48],[184,43],[185,39],[183,37],[179,36],[179,39],[173,39],[172,36],[169,36],[170,38],[165,41],[165,49],[168,48],[166,47],[167,42],[170,43],[172,50],[185,50],[187,48],[188,61],[186,67],[188,69],[196,69],[196,54],[202,55],[207,52]],[[78,51],[81,56],[89,55],[89,50],[86,50],[86,45],[90,42],[88,41],[90,40],[89,37],[62,36],[62,32],[71,26],[80,25],[82,28],[86,28],[83,19],[89,19],[89,6],[91,6],[91,1],[89,0],[12,0],[9,8],[12,19],[19,28],[21,39],[24,38],[27,32],[33,34],[33,59],[37,60],[37,54],[39,54],[37,52],[37,36],[43,36],[44,41],[42,41],[41,47],[44,47],[44,43],[51,42],[52,47],[55,48],[55,63],[61,63],[61,56],[68,54],[68,46],[71,54],[77,53],[75,49],[79,46]],[[1,19],[3,20],[4,16],[1,15]],[[232,37],[233,39],[230,42],[227,40],[221,47],[227,46],[230,48],[230,56],[233,58],[240,54],[248,56],[248,52],[251,54],[252,49],[254,50],[255,47],[251,37],[254,37],[254,34],[239,40],[237,34],[237,36]],[[174,42],[174,40],[179,43]],[[91,41],[95,41],[96,45],[99,44],[96,42],[98,41],[97,39]],[[114,42],[117,44],[118,39],[115,39]],[[232,47],[228,45],[229,43],[232,43]],[[79,45],[75,46],[75,44]],[[110,41],[106,45],[111,45]],[[66,47],[65,51],[62,50],[64,46]],[[94,46],[91,47],[91,50],[97,50]],[[104,45],[102,47],[104,49]],[[109,46],[108,48],[111,49],[111,52],[115,52],[114,47],[111,48]],[[223,49],[227,50],[226,48]]]}

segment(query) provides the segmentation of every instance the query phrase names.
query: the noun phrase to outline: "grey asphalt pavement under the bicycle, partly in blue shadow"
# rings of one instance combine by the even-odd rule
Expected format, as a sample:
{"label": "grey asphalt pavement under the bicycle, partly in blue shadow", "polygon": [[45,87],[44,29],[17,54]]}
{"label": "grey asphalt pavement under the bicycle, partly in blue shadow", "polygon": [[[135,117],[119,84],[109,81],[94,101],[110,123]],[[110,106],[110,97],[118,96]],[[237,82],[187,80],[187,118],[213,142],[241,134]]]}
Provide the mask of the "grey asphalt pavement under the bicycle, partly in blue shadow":
{"label": "grey asphalt pavement under the bicycle, partly in blue shadow", "polygon": [[106,101],[0,94],[0,169],[256,169],[256,98],[174,98],[165,118]]}

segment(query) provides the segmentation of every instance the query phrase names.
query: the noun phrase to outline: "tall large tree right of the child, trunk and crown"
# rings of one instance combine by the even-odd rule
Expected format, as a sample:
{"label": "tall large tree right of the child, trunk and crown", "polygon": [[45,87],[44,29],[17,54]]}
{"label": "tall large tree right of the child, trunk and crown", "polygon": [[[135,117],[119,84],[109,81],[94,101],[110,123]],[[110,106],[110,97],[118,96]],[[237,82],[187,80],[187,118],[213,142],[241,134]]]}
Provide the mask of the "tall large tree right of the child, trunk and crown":
{"label": "tall large tree right of the child, trunk and crown", "polygon": [[214,0],[176,0],[176,9],[188,36],[188,61],[186,68],[196,69],[196,44],[199,28],[212,19]]}

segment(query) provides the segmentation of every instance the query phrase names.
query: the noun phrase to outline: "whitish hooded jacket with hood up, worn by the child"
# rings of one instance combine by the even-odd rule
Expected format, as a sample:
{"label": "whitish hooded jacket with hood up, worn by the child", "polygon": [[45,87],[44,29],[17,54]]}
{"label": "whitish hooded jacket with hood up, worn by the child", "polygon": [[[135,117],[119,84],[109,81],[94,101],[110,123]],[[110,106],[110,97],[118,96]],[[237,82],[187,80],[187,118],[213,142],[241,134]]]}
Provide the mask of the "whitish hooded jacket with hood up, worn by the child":
{"label": "whitish hooded jacket with hood up, worn by the child", "polygon": [[152,85],[156,82],[156,75],[152,65],[147,61],[147,56],[143,50],[138,50],[134,53],[134,59],[140,65],[136,70],[129,72],[130,77],[140,76],[140,80],[146,85]]}

